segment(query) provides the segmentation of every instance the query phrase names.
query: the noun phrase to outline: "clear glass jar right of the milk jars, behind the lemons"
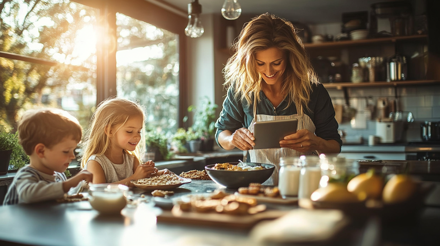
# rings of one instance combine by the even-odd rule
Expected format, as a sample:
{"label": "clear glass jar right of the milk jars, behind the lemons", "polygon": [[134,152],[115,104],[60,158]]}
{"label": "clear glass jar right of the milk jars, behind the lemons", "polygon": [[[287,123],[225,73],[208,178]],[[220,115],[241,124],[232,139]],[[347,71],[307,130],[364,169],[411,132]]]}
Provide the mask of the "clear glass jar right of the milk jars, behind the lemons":
{"label": "clear glass jar right of the milk jars, behind the lemons", "polygon": [[326,187],[328,183],[346,185],[348,181],[359,174],[359,163],[344,157],[326,156],[321,161],[321,172],[323,176],[319,181],[319,187]]}

